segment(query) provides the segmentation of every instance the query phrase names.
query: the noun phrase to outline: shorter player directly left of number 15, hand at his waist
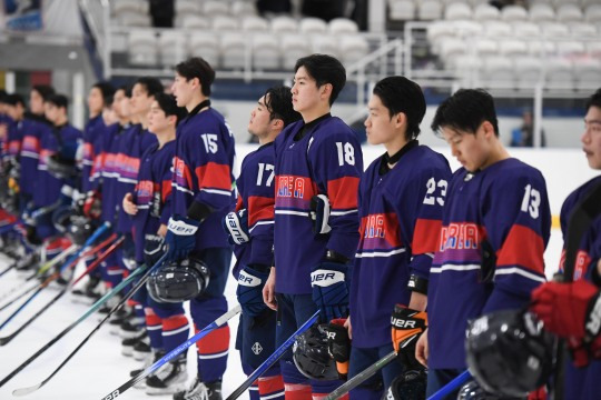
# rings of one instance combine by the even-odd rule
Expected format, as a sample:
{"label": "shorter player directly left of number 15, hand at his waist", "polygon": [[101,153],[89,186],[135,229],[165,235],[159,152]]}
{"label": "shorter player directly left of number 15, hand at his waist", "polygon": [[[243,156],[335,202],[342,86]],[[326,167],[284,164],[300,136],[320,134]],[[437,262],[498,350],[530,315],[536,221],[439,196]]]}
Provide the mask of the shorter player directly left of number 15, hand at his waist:
{"label": "shorter player directly left of number 15, hand at his waist", "polygon": [[[176,126],[183,116],[173,96],[155,94],[148,113],[148,131],[157,137],[158,143],[144,152],[136,189],[124,198],[124,210],[134,220],[136,262],[146,262],[148,267],[160,258],[167,222],[171,216],[171,166]],[[188,339],[189,326],[183,303],[157,302],[148,297],[146,287],[140,288],[136,297],[145,307],[146,326],[155,358],[165,356]],[[134,352],[145,352],[144,346],[136,344]],[[185,389],[186,378],[185,363],[177,360],[168,363],[159,373],[148,377],[146,390],[149,394],[173,394]]]}

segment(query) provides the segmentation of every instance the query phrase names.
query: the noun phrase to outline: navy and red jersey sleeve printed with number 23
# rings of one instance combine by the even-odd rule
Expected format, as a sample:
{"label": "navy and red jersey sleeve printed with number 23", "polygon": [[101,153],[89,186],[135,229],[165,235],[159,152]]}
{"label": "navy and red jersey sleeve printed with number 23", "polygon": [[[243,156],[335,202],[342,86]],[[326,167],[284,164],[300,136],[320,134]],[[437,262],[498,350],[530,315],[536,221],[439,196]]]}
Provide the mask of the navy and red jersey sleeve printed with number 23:
{"label": "navy and red jersey sleeve printed with number 23", "polygon": [[411,274],[428,279],[442,227],[442,211],[451,180],[451,170],[449,166],[441,166],[427,169],[420,178],[413,182],[417,194],[412,197],[413,210],[407,212],[414,216],[412,259],[408,267]]}

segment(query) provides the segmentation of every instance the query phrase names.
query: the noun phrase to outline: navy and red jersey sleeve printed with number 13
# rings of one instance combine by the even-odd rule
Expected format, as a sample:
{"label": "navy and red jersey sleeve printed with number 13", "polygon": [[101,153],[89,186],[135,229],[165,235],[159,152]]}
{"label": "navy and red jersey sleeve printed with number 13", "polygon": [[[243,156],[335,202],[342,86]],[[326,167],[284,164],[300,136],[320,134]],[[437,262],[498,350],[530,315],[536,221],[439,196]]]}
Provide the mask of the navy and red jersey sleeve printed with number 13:
{"label": "navy and red jersey sleeve printed with number 13", "polygon": [[483,313],[523,307],[545,281],[543,253],[551,230],[546,184],[540,173],[512,172],[495,180],[481,200],[485,239],[496,254]]}

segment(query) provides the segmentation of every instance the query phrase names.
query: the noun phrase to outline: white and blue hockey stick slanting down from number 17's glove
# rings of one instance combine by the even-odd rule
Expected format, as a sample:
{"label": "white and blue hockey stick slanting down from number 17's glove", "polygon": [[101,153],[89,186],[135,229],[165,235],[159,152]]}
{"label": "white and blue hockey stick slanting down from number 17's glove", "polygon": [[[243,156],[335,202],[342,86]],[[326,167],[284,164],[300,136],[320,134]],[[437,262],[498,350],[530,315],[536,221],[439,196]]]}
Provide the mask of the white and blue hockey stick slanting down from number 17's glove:
{"label": "white and blue hockey stick slanting down from number 17's glove", "polygon": [[[179,356],[181,352],[187,350],[190,346],[196,343],[198,340],[203,339],[210,332],[213,332],[215,329],[221,327],[224,323],[226,323],[228,320],[230,320],[234,316],[237,316],[240,312],[242,308],[240,306],[234,307],[231,310],[227,311],[221,317],[217,318],[215,321],[213,321],[210,324],[206,326],[201,331],[186,340],[184,343],[179,344],[174,350],[169,351],[167,354],[165,354],[160,360],[157,360],[154,364],[146,368],[144,371],[138,373],[136,377],[131,378],[124,384],[121,384],[119,388],[111,391],[109,394],[105,396],[102,400],[109,400],[109,399],[116,399],[117,397],[121,396],[126,390],[134,387],[136,383],[148,377],[150,373],[155,372],[162,366],[165,366],[167,362]],[[97,328],[98,329],[98,328]],[[93,332],[92,332],[93,333]],[[12,394],[19,396],[17,391],[13,391]]]}

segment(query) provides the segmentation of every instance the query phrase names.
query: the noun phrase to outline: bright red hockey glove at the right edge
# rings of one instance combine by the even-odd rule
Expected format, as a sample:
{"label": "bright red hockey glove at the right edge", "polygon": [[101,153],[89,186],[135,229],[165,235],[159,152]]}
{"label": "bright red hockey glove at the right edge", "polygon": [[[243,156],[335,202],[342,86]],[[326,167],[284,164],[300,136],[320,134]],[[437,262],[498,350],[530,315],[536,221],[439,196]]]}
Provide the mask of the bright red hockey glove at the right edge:
{"label": "bright red hockey glove at the right edge", "polygon": [[532,291],[531,309],[543,321],[545,330],[561,338],[591,340],[599,336],[599,288],[585,280],[541,284]]}

